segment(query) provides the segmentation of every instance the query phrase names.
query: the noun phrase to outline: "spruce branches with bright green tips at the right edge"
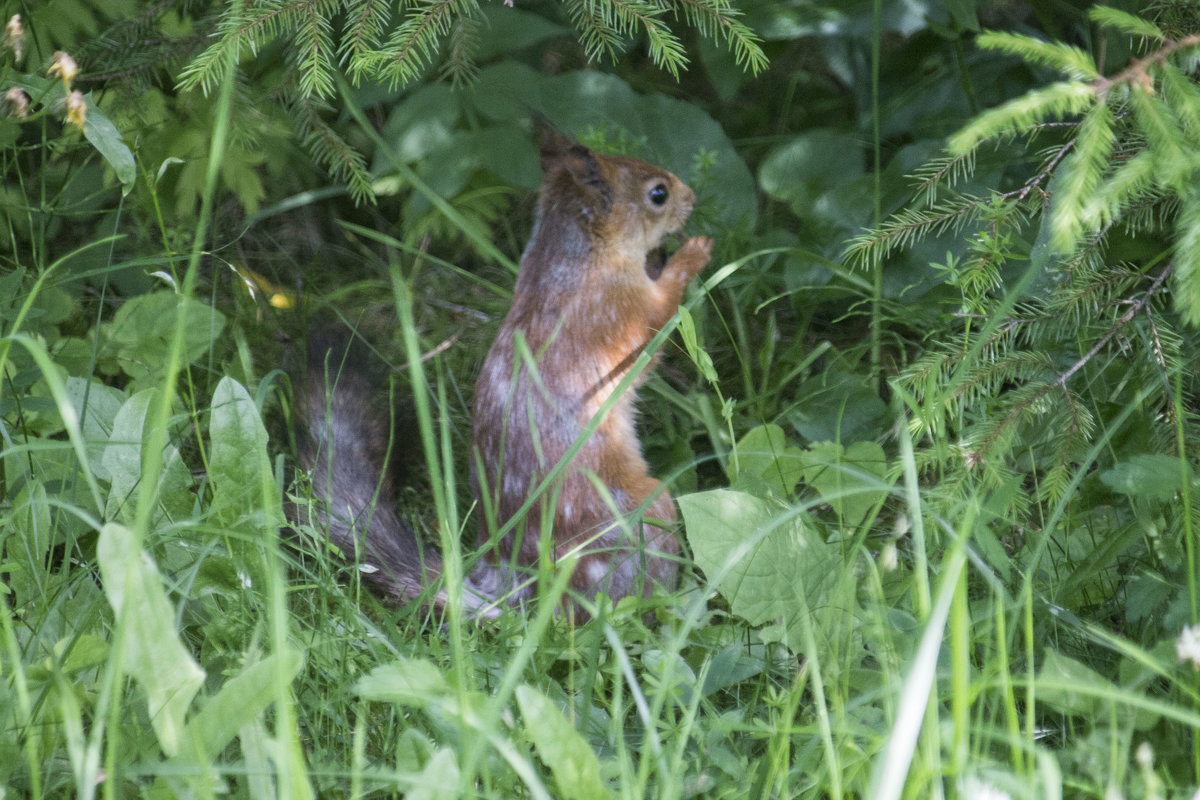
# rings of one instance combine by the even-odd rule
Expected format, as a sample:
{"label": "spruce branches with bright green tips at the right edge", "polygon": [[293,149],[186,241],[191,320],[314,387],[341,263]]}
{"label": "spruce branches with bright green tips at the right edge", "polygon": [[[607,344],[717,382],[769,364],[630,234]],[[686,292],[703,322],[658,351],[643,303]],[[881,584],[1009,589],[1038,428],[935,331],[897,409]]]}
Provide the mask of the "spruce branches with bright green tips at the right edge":
{"label": "spruce branches with bright green tips at the right edge", "polygon": [[[938,443],[918,463],[944,468],[950,458],[978,471],[978,485],[1000,487],[1016,474],[1019,459],[1032,457],[1033,488],[1049,504],[1062,499],[1092,443],[1097,421],[1086,395],[1104,380],[1115,354],[1139,349],[1141,357],[1120,363],[1144,387],[1145,403],[1170,408],[1176,377],[1184,375],[1184,391],[1193,391],[1178,349],[1186,337],[1172,318],[1154,312],[1174,295],[1182,321],[1200,321],[1194,158],[1184,155],[1200,145],[1189,124],[1200,112],[1189,77],[1200,38],[1168,38],[1153,23],[1115,8],[1090,16],[1152,49],[1105,77],[1078,47],[982,34],[980,47],[1051,67],[1066,80],[983,112],[950,136],[948,155],[914,174],[917,200],[846,251],[871,267],[923,239],[973,230],[967,251],[948,254],[938,267],[961,293],[962,324],[943,331],[943,341],[906,368],[896,386],[912,403],[912,433]],[[1069,136],[1050,145],[1015,188],[954,191],[971,179],[986,144],[1062,132]],[[1174,218],[1169,261],[1109,263],[1116,231],[1129,235],[1148,217],[1164,216]],[[1031,222],[1036,241],[1020,246]],[[1020,261],[1027,265],[1014,270]],[[1166,291],[1169,277],[1174,293]],[[1130,323],[1141,331],[1134,339]],[[1144,349],[1133,343],[1139,339]],[[1165,415],[1160,422],[1158,433],[1169,441],[1177,420]],[[940,444],[948,432],[958,438],[954,456]],[[1007,512],[1019,518],[1022,509],[1030,509],[1024,500]]]}

